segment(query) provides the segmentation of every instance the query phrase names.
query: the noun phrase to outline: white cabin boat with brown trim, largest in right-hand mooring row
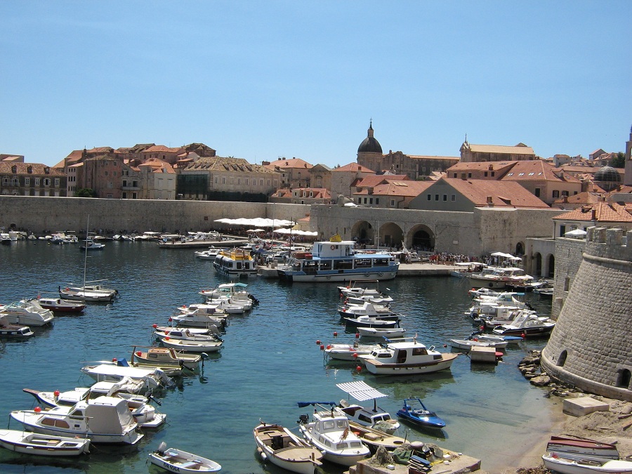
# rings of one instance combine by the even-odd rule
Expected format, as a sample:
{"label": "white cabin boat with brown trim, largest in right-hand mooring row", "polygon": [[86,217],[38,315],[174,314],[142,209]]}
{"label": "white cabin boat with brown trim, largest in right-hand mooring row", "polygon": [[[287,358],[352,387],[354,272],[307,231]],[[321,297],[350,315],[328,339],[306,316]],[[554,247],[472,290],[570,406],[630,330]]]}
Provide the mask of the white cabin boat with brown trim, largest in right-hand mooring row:
{"label": "white cabin boat with brown trim, largest in right-hand mooring row", "polygon": [[459,353],[440,353],[434,345],[427,348],[412,338],[411,341],[382,344],[358,360],[364,362],[371,374],[415,375],[449,369],[458,356]]}

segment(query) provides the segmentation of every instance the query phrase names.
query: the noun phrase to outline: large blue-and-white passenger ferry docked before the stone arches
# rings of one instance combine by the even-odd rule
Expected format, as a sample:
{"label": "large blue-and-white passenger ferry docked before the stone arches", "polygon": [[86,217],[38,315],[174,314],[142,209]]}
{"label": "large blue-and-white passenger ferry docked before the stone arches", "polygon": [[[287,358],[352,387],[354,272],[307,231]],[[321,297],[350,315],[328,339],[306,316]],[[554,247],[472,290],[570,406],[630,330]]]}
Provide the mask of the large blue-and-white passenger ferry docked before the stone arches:
{"label": "large blue-and-white passenger ferry docked before the stone arches", "polygon": [[353,240],[339,236],[315,242],[311,252],[294,252],[277,267],[289,282],[347,282],[353,279],[393,279],[400,263],[387,253],[357,251]]}

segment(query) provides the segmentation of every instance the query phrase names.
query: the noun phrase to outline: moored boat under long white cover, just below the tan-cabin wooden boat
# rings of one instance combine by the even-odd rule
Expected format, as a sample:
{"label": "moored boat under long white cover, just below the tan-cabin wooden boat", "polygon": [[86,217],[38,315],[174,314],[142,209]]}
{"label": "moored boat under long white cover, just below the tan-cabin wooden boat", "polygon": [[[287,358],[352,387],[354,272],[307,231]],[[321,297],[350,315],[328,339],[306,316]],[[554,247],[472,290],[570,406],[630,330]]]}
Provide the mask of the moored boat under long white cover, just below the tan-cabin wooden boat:
{"label": "moored boat under long white cover, just below the tan-cabin wooden boat", "polygon": [[164,371],[155,367],[129,367],[125,360],[114,362],[100,362],[95,365],[81,367],[81,372],[91,376],[97,382],[121,382],[126,378],[143,382],[143,390],[151,390],[158,387],[171,387],[173,381]]}

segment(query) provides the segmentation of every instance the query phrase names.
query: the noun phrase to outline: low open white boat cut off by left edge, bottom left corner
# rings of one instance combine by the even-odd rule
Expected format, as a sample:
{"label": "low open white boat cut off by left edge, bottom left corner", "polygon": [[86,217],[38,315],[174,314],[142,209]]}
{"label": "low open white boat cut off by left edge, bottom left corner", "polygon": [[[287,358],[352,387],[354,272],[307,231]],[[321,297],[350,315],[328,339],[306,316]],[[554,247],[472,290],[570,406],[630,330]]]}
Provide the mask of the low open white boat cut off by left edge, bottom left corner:
{"label": "low open white boat cut off by left edge, bottom left corner", "polygon": [[37,456],[79,456],[88,452],[90,440],[41,435],[31,431],[0,430],[0,446],[9,451]]}

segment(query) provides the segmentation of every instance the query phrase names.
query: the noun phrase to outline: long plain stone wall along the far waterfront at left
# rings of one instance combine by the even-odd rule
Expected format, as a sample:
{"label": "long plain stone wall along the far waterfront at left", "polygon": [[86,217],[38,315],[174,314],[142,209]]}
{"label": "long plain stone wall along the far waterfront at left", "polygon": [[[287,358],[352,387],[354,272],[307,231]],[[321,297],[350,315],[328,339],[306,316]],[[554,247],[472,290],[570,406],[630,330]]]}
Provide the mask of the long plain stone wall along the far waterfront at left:
{"label": "long plain stone wall along the far waterfront at left", "polygon": [[301,204],[0,196],[0,227],[35,235],[82,232],[88,216],[91,232],[186,232],[220,229],[221,224],[214,222],[220,218],[298,220],[309,212],[310,206]]}

